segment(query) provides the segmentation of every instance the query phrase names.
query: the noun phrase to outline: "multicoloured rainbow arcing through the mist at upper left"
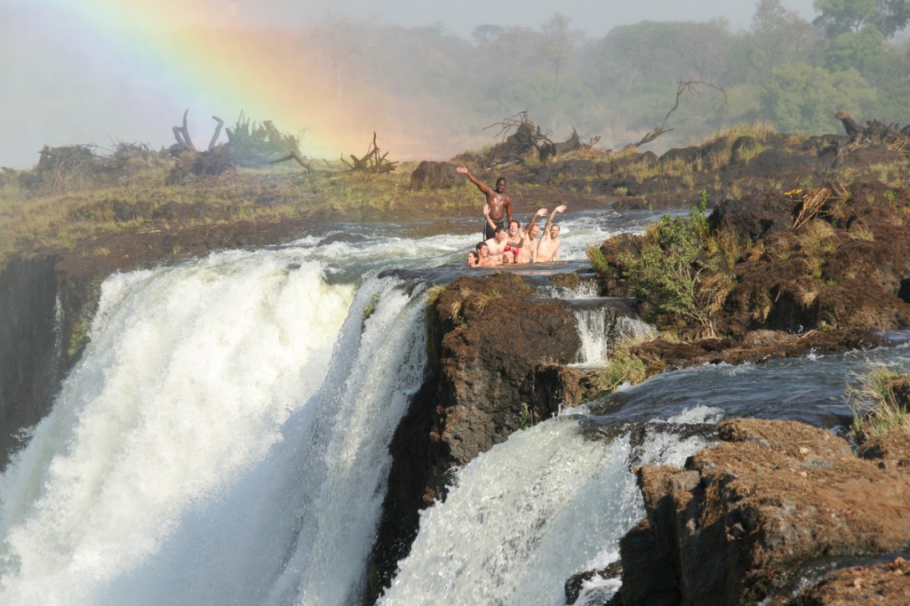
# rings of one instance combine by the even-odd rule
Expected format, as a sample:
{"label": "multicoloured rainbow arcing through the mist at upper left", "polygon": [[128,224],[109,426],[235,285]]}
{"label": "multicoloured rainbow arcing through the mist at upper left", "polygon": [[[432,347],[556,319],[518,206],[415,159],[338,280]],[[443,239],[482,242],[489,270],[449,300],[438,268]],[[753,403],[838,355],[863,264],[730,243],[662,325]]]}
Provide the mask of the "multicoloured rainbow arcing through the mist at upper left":
{"label": "multicoloured rainbow arcing through the mist at upper left", "polygon": [[[394,145],[401,131],[389,112],[392,100],[377,103],[357,82],[345,82],[342,90],[330,47],[290,29],[234,26],[236,0],[218,11],[211,5],[84,0],[70,9],[76,19],[66,35],[74,44],[96,46],[110,64],[104,69],[119,75],[109,94],[124,94],[129,113],[154,121],[146,128],[160,127],[167,145],[173,143],[170,127],[181,123],[185,109],[197,147],[207,146],[214,133],[210,116],[230,127],[241,112],[251,122],[271,120],[281,132],[298,135],[308,157],[362,154],[374,131],[380,146]],[[177,27],[175,15],[198,25]]]}

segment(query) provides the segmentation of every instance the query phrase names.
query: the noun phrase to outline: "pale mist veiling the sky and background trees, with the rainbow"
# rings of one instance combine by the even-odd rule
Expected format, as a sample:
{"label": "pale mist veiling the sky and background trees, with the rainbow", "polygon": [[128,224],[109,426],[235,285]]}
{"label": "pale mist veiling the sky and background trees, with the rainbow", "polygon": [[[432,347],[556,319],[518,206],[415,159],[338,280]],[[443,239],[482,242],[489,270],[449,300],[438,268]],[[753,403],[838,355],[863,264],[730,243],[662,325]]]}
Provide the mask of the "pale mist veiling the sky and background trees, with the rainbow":
{"label": "pale mist veiling the sky and background trees, with the rainbow", "polygon": [[[762,78],[820,60],[811,0],[695,2],[682,15],[666,1],[590,4],[6,0],[0,166],[33,167],[42,146],[167,147],[185,111],[197,146],[212,116],[228,127],[271,120],[308,157],[362,155],[375,132],[390,159],[448,159],[495,144],[501,122],[522,112],[554,140],[574,128],[617,148],[661,123],[679,81],[710,85],[681,99],[672,131],[649,144],[660,152],[736,121],[775,121]],[[786,44],[766,40],[779,52],[757,65],[747,46],[761,46],[762,4],[776,9],[773,34]],[[836,126],[832,116],[804,128]]]}

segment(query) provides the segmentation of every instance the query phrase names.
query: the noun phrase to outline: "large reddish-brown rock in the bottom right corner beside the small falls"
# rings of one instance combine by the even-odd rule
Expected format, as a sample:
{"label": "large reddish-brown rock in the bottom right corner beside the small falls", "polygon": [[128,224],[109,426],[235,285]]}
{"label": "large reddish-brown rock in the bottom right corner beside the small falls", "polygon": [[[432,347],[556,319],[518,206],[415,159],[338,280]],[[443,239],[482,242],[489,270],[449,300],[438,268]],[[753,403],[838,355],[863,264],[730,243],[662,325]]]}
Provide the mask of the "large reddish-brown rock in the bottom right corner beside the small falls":
{"label": "large reddish-brown rock in the bottom right corner beside the small falls", "polygon": [[[856,570],[808,589],[793,583],[838,558],[849,569],[846,558],[907,550],[910,434],[873,440],[857,458],[844,439],[793,421],[732,419],[718,429],[721,442],[684,469],[636,470],[647,518],[621,541],[612,604],[864,603],[819,597]],[[887,591],[904,601],[876,603],[907,603],[906,564],[888,561]]]}

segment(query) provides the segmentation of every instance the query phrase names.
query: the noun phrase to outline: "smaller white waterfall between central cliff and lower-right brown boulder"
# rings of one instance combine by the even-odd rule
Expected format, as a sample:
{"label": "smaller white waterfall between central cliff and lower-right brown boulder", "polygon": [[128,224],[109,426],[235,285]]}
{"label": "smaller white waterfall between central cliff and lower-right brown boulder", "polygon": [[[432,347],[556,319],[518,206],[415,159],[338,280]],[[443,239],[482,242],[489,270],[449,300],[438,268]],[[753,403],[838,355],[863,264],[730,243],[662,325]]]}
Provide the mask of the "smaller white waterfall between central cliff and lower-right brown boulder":
{"label": "smaller white waterfall between central cliff and lower-right brown boulder", "polygon": [[[707,444],[655,432],[632,449],[628,433],[591,438],[583,422],[543,421],[460,470],[445,502],[422,512],[379,604],[563,604],[564,581],[616,561],[620,538],[644,514],[630,458],[682,465]],[[582,595],[595,591],[604,590],[591,583]]]}

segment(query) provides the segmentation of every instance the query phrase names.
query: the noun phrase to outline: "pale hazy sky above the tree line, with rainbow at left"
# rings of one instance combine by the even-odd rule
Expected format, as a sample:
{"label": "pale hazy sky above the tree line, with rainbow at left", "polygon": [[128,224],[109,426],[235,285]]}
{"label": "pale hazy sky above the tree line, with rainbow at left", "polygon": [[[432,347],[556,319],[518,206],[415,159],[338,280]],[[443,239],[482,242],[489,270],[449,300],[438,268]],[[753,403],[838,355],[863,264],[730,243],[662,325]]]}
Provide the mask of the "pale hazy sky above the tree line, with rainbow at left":
{"label": "pale hazy sky above the tree line, with rainbow at left", "polygon": [[[782,4],[807,20],[814,15],[812,0]],[[441,27],[470,39],[479,25],[540,30],[560,13],[571,19],[572,28],[596,38],[644,20],[720,17],[735,31],[749,26],[755,5],[750,0],[0,0],[0,167],[34,167],[45,145],[169,146],[174,143],[171,126],[180,123],[186,109],[197,146],[213,131],[210,116],[234,107],[276,118],[288,132],[339,119],[328,106],[301,106],[299,89],[279,90],[278,82],[291,75],[253,81],[258,68],[252,56],[258,49],[243,49],[243,56],[238,49],[238,73],[228,74],[226,66],[205,66],[205,49],[192,40],[181,48],[162,42],[162,32],[188,25],[296,30],[343,17]],[[238,76],[244,73],[246,81]],[[307,125],[295,124],[302,119],[299,113],[306,114]],[[236,116],[221,117],[230,125]],[[357,126],[361,135],[363,126],[369,128]],[[352,151],[346,148],[350,144],[317,128],[301,150],[309,157],[337,158]]]}

